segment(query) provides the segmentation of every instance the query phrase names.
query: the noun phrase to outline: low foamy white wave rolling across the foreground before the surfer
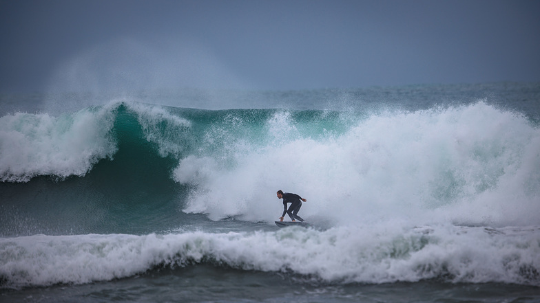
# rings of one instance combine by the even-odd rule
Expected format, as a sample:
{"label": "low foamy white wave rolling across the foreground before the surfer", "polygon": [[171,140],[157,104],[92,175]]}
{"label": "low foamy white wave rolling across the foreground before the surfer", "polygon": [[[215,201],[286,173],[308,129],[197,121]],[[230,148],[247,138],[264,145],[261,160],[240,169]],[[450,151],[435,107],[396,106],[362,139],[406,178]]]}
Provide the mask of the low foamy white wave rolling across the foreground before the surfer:
{"label": "low foamy white wave rolling across the foreground before the surfer", "polygon": [[282,229],[278,232],[29,236],[0,240],[3,287],[82,284],[209,262],[331,283],[540,286],[540,228]]}

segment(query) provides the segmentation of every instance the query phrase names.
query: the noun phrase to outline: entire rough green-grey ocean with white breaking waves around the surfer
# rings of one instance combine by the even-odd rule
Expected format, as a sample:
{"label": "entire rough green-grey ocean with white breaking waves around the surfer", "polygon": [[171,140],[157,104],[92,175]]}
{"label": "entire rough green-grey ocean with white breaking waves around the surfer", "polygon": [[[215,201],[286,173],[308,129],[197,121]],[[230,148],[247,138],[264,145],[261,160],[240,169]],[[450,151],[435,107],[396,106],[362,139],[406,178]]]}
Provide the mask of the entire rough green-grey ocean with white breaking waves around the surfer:
{"label": "entire rough green-grey ocean with white breaking waves around the surfer", "polygon": [[0,98],[0,302],[540,302],[540,83]]}

